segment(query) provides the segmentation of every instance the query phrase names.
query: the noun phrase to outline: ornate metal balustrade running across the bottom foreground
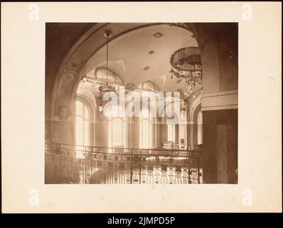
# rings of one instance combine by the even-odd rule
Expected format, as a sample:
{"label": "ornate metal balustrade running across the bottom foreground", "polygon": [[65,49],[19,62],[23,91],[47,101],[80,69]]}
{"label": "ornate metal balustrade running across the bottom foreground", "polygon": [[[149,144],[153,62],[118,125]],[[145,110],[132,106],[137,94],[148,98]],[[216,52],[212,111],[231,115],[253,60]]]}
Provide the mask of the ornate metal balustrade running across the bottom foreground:
{"label": "ornate metal balustrade running across the bottom foreground", "polygon": [[196,150],[93,147],[46,142],[46,184],[200,184]]}

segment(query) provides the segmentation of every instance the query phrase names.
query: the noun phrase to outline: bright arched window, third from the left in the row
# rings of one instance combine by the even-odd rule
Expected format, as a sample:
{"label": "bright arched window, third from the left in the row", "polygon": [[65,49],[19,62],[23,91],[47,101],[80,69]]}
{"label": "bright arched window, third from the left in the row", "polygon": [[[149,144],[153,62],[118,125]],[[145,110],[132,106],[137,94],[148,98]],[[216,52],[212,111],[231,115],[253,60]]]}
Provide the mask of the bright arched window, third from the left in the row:
{"label": "bright arched window, third from the left in the row", "polygon": [[152,147],[152,117],[149,109],[143,108],[141,111],[139,124],[139,147]]}

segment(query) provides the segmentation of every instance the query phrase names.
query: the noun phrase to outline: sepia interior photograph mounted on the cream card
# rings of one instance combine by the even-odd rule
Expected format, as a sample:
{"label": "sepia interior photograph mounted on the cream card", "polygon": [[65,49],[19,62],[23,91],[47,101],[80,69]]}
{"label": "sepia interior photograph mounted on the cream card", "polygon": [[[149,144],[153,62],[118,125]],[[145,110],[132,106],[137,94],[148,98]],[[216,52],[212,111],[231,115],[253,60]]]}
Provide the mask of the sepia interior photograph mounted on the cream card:
{"label": "sepia interior photograph mounted on the cream card", "polygon": [[237,184],[237,34],[46,23],[45,183]]}

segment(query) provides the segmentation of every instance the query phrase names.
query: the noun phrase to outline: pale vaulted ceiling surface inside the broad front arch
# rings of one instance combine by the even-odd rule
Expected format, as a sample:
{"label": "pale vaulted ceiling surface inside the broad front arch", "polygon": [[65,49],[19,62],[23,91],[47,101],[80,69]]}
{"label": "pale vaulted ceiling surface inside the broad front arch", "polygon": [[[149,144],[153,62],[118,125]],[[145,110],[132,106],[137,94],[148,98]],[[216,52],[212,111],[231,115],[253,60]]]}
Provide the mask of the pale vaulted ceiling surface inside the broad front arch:
{"label": "pale vaulted ceiling surface inside the broad front arch", "polygon": [[[107,28],[111,30],[110,28]],[[157,35],[156,35],[157,34]],[[102,35],[102,39],[106,38]],[[160,90],[186,90],[183,81],[177,85],[171,80],[170,57],[180,48],[198,46],[193,33],[185,28],[159,24],[133,29],[116,38],[110,38],[109,68],[124,82],[138,86],[151,81]],[[96,51],[85,64],[85,72],[106,66],[106,46]]]}

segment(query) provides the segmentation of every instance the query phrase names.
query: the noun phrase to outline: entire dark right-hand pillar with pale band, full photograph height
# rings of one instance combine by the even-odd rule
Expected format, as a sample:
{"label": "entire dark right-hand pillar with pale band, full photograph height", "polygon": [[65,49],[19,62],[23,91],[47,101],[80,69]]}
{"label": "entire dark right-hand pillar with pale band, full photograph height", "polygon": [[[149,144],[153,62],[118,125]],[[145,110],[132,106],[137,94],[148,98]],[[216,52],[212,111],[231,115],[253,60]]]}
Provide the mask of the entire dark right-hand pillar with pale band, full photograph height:
{"label": "entire dark right-hand pillar with pale band, full photograph height", "polygon": [[238,24],[192,25],[203,66],[203,182],[237,183]]}

